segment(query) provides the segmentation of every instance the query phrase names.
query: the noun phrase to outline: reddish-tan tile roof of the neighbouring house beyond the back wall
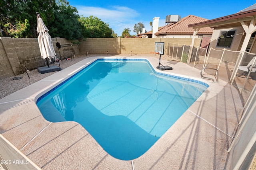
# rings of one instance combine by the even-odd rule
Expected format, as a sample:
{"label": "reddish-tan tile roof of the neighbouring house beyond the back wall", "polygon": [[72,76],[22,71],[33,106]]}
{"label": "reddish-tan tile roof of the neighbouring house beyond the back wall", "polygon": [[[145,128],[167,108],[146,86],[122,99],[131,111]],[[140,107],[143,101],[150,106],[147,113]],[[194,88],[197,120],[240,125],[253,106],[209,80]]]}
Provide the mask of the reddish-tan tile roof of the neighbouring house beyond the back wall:
{"label": "reddish-tan tile roof of the neighbouring house beyond the back wall", "polygon": [[[158,29],[158,32],[155,33],[155,35],[161,35],[161,34],[193,34],[194,29],[191,27],[188,27],[189,24],[198,23],[207,21],[207,19],[189,15],[184,18],[182,18],[180,21],[176,23],[169,23],[168,25],[165,25],[163,27],[160,27]],[[201,28],[197,34],[212,34],[213,30],[210,27],[204,27]]]}

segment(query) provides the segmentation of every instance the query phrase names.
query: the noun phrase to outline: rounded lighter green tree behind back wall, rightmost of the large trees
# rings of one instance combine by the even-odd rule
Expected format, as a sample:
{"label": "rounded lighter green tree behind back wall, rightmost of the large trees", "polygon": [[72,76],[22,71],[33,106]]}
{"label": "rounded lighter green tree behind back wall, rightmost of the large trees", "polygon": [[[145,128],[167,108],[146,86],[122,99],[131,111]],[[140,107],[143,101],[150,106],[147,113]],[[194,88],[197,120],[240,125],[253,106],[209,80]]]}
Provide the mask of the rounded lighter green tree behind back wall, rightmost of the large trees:
{"label": "rounded lighter green tree behind back wall, rightmost of the large trees", "polygon": [[113,29],[111,29],[108,23],[104,23],[97,17],[80,16],[79,19],[82,24],[82,35],[86,38],[112,38]]}

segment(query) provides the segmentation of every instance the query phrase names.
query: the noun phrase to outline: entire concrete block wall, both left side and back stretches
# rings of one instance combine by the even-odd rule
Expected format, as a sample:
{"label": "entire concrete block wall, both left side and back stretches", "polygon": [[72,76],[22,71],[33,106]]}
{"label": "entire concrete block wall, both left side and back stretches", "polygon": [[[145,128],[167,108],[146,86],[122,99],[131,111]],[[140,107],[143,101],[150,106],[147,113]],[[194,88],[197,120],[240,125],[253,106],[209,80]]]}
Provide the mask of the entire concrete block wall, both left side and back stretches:
{"label": "entire concrete block wall, both left side and back stretches", "polygon": [[[80,45],[63,38],[52,38],[54,50],[61,60],[68,58],[66,51],[74,55],[88,54],[150,54],[154,53],[155,42],[164,42],[164,54],[170,43],[190,45],[192,39],[185,38],[87,38],[80,40]],[[201,39],[196,39],[194,47],[200,46]],[[62,47],[59,49],[56,43]],[[64,47],[66,46],[66,47]],[[29,70],[45,66],[41,58],[37,38],[0,37],[0,79],[18,75]]]}

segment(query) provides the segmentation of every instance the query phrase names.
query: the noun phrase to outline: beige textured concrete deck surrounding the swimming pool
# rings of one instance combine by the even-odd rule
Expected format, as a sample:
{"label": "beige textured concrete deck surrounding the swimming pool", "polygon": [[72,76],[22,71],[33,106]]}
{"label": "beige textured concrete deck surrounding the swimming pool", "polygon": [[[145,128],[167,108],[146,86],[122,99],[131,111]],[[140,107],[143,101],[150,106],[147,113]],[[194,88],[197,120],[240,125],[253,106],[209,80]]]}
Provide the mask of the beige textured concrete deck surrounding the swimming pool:
{"label": "beige textured concrete deck surrounding the swimming pool", "polygon": [[[104,57],[99,57],[104,58]],[[106,57],[122,58],[122,57]],[[124,57],[131,58],[131,57]],[[134,58],[134,57],[133,57]],[[154,68],[159,59],[146,58]],[[51,123],[36,100],[97,57],[89,57],[0,100],[0,133],[42,169],[224,169],[228,147],[242,116],[239,92],[225,81],[212,83],[200,70],[176,61],[168,72],[206,82],[208,89],[142,156],[118,160],[74,121]]]}

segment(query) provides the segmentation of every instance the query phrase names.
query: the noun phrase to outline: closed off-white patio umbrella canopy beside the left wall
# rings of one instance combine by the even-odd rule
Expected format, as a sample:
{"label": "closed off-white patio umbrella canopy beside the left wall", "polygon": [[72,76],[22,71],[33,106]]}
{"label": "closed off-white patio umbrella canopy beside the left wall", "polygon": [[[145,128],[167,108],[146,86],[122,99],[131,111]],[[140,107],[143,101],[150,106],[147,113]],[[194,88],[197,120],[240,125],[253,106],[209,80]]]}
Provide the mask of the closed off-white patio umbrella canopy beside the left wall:
{"label": "closed off-white patio umbrella canopy beside the left wall", "polygon": [[40,14],[38,15],[38,25],[36,31],[38,32],[38,44],[40,48],[40,53],[42,59],[46,59],[47,57],[51,59],[51,57],[56,58],[56,53],[54,51],[53,43],[50,34],[48,33],[48,28],[44,25],[44,21],[40,18]]}

